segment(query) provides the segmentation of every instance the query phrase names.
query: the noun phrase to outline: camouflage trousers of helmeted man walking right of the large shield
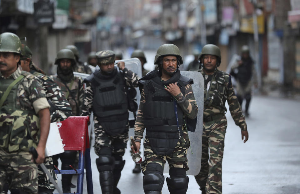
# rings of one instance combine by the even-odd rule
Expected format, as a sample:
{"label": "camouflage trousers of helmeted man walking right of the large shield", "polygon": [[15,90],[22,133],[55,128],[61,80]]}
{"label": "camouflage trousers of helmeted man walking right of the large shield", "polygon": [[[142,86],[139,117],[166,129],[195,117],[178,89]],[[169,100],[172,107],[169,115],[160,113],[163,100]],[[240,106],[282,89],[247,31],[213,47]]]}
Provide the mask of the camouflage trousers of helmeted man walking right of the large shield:
{"label": "camouflage trousers of helmeted man walking right of the large shield", "polygon": [[203,121],[201,170],[195,178],[198,185],[202,189],[205,188],[206,194],[222,193],[222,159],[226,128],[225,116],[216,121]]}

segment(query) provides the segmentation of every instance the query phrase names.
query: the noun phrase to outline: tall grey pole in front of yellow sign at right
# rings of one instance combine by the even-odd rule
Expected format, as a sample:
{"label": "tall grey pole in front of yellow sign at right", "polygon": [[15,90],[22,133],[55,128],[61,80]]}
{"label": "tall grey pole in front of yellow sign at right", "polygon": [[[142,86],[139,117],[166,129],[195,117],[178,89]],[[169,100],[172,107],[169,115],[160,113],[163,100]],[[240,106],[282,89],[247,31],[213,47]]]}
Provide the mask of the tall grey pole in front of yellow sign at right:
{"label": "tall grey pole in front of yellow sign at right", "polygon": [[255,55],[255,66],[257,71],[257,82],[258,82],[258,89],[262,86],[262,73],[261,73],[261,65],[259,61],[259,46],[258,46],[258,26],[257,26],[257,15],[256,15],[256,9],[257,9],[257,0],[252,0],[253,4],[253,30],[254,30],[254,55]]}

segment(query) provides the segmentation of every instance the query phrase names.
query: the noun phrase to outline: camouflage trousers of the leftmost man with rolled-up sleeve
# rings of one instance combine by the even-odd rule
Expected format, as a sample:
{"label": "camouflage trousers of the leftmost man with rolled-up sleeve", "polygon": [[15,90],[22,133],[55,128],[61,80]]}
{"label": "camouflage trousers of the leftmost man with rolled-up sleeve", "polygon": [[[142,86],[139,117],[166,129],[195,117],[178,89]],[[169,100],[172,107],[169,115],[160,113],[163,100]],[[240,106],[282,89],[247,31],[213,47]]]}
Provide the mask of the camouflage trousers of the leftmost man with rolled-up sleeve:
{"label": "camouflage trousers of the leftmost man with rolled-up sleeve", "polygon": [[30,194],[37,193],[37,165],[29,152],[7,153],[0,149],[0,191],[4,184]]}

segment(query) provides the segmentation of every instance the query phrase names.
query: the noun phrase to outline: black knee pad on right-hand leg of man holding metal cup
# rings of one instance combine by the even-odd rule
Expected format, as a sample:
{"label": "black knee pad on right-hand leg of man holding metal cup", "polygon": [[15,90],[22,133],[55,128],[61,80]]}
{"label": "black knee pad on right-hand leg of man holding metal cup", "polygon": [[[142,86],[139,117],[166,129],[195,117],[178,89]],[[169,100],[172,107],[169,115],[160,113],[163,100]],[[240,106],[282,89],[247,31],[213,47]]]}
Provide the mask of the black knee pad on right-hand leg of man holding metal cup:
{"label": "black knee pad on right-hand leg of man holding metal cup", "polygon": [[187,192],[188,177],[184,168],[170,168],[167,185],[170,194],[185,194]]}

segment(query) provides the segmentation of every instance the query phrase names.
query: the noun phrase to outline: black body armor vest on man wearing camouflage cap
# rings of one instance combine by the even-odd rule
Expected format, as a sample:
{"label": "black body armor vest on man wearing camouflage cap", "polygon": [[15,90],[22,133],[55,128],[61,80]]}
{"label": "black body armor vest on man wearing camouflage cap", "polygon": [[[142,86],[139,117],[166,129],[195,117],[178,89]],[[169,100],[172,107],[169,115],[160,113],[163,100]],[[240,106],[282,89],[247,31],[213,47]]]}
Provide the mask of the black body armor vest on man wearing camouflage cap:
{"label": "black body armor vest on man wearing camouflage cap", "polygon": [[122,134],[128,123],[128,100],[123,75],[115,68],[111,76],[100,71],[91,74],[90,82],[94,92],[93,113],[108,135]]}

